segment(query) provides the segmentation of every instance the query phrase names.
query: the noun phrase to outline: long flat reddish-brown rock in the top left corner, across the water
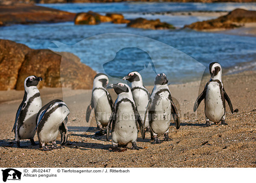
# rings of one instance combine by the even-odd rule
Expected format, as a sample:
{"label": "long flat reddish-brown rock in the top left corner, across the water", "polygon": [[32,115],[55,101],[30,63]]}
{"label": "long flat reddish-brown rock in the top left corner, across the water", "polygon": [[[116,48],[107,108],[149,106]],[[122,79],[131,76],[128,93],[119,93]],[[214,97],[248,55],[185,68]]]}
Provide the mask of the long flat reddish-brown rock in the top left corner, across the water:
{"label": "long flat reddish-brown rock in the top left corner, across the water", "polygon": [[0,20],[3,24],[65,22],[73,21],[75,15],[75,13],[33,4],[0,5]]}

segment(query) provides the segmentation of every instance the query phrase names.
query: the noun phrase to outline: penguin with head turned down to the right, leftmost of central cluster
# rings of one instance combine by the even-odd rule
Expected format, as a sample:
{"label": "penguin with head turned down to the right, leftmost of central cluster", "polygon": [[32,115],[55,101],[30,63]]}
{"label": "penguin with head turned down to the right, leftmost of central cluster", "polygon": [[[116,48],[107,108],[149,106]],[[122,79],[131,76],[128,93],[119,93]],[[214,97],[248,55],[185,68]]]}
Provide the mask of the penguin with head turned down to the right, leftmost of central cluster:
{"label": "penguin with head turned down to the right, leftmost of central cluster", "polygon": [[97,127],[103,130],[108,125],[108,120],[113,112],[113,101],[107,90],[108,76],[99,73],[93,80],[92,98],[86,111],[86,121],[89,122],[90,113],[94,108]]}

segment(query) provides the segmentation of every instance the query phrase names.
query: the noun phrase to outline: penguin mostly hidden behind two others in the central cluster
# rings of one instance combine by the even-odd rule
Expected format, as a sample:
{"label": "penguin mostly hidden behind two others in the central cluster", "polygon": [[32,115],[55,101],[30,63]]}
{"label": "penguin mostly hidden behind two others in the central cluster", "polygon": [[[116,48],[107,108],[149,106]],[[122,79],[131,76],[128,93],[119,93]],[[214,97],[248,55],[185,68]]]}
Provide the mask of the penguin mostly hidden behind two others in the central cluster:
{"label": "penguin mostly hidden behind two others in the central cluster", "polygon": [[[143,86],[142,77],[139,72],[130,72],[123,80],[131,82],[131,93],[142,120],[144,120],[147,105],[150,99],[148,90]],[[149,131],[148,118],[145,121],[145,128]]]}

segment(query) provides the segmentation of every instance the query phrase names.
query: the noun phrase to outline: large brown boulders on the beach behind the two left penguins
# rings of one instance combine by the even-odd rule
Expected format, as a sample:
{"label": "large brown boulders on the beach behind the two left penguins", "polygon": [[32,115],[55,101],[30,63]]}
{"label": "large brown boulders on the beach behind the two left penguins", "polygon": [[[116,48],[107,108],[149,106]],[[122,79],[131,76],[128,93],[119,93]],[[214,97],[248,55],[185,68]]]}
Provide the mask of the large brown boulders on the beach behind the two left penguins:
{"label": "large brown boulders on the beach behind the two left penguins", "polygon": [[30,49],[9,40],[0,40],[0,90],[24,89],[30,75],[43,77],[38,88],[68,87],[91,89],[96,72],[69,52]]}

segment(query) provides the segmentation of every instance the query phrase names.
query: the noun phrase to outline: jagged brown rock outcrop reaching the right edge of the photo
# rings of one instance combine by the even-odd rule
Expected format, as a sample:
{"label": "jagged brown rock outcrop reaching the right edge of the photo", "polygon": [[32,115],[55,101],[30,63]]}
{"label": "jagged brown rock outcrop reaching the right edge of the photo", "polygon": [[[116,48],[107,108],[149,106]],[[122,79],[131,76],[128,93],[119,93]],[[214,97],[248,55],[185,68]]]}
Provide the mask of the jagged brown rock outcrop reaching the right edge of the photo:
{"label": "jagged brown rock outcrop reaching the right edge of the photo", "polygon": [[234,29],[243,26],[243,23],[251,22],[256,22],[256,11],[235,9],[216,19],[195,22],[184,27],[195,30]]}

